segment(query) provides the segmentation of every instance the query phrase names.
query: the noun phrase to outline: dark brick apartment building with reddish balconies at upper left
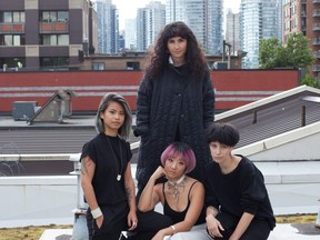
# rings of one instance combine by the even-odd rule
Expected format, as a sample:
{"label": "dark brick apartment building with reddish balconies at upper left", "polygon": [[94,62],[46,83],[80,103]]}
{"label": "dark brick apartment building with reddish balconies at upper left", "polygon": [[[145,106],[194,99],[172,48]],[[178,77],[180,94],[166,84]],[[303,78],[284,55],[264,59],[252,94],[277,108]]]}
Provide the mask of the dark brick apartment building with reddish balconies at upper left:
{"label": "dark brick apartment building with reddish balconies at upper left", "polygon": [[78,69],[97,49],[96,24],[89,0],[0,1],[0,69]]}

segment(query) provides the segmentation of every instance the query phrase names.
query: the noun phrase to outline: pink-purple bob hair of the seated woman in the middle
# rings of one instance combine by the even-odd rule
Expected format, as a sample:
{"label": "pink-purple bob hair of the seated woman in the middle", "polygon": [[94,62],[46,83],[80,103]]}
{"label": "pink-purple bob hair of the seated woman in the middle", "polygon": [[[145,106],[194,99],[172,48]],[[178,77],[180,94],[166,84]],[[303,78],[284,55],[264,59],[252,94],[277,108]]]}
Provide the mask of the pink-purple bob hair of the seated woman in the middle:
{"label": "pink-purple bob hair of the seated woman in the middle", "polygon": [[196,168],[196,156],[192,151],[191,147],[186,142],[176,141],[170,146],[161,154],[161,163],[164,166],[166,161],[173,156],[182,157],[183,162],[186,163],[186,172],[189,173]]}

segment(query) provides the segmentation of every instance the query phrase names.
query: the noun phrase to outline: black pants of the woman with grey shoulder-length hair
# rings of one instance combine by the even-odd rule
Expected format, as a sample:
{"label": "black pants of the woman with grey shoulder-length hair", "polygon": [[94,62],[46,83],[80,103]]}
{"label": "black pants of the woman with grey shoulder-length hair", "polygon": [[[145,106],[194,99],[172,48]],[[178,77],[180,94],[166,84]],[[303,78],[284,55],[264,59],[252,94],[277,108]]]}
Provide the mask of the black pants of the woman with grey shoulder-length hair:
{"label": "black pants of the woman with grey shoulder-length hair", "polygon": [[90,240],[119,240],[121,231],[128,230],[127,202],[113,206],[100,206],[103,213],[103,222],[99,229],[96,219],[92,218],[90,209],[87,212],[87,227]]}

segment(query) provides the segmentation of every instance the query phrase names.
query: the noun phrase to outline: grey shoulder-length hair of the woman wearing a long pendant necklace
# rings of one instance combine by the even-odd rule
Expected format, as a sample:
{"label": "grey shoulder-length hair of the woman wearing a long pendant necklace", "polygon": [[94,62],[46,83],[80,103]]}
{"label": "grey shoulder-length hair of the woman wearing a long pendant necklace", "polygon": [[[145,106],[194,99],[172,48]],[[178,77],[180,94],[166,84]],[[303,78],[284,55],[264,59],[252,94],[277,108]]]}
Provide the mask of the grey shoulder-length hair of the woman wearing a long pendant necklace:
{"label": "grey shoulder-length hair of the woman wearing a long pendant necklace", "polygon": [[109,107],[110,102],[118,102],[124,109],[124,122],[120,127],[118,134],[121,136],[123,139],[128,139],[130,137],[131,122],[132,122],[131,109],[130,109],[128,102],[126,101],[126,99],[122,96],[114,93],[114,92],[107,93],[101,99],[99,108],[98,108],[98,112],[96,116],[96,130],[99,133],[106,131],[103,119],[100,118],[100,113],[106,111],[106,109]]}

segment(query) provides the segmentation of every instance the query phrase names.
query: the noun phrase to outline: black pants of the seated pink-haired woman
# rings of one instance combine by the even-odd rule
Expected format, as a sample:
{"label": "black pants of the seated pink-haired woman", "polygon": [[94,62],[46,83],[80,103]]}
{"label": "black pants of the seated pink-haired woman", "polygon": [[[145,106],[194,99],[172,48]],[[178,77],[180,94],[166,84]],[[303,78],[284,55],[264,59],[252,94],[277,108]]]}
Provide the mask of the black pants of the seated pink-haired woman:
{"label": "black pants of the seated pink-haired woman", "polygon": [[134,230],[134,236],[130,240],[150,240],[152,237],[163,228],[173,224],[173,221],[162,213],[156,211],[137,212],[138,227]]}

